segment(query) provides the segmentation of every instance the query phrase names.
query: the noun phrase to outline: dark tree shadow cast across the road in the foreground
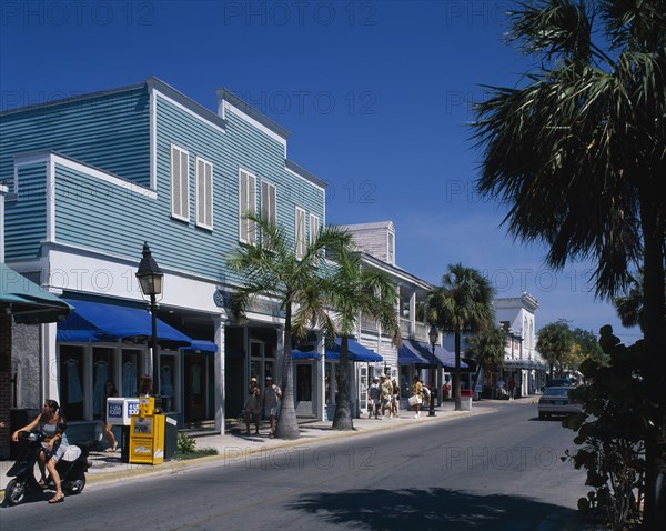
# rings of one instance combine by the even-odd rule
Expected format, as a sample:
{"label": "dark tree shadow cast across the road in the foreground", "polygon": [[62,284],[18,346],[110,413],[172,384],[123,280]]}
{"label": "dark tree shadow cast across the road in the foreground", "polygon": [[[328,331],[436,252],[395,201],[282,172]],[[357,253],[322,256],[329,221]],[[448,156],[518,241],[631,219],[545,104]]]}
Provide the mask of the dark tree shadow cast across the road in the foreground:
{"label": "dark tree shadow cast across the road in the foreground", "polygon": [[322,520],[323,527],[329,523],[382,531],[522,531],[537,529],[555,513],[559,522],[575,515],[572,509],[529,498],[478,495],[448,489],[377,489],[312,493],[302,497],[291,509],[315,513]]}

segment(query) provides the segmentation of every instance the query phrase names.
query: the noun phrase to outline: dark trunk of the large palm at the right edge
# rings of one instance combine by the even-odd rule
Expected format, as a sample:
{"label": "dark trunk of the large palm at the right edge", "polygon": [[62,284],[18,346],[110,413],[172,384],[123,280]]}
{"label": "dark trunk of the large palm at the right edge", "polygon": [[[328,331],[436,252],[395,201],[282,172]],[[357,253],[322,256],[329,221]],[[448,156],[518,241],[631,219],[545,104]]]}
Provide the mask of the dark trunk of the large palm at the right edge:
{"label": "dark trunk of the large palm at the right edge", "polygon": [[[657,180],[655,179],[655,182]],[[640,200],[640,221],[644,228],[644,321],[643,335],[647,363],[645,382],[648,397],[659,405],[657,437],[645,444],[645,525],[662,529],[666,522],[666,477],[664,473],[664,444],[666,443],[666,300],[664,294],[664,224],[658,202],[645,191]]]}

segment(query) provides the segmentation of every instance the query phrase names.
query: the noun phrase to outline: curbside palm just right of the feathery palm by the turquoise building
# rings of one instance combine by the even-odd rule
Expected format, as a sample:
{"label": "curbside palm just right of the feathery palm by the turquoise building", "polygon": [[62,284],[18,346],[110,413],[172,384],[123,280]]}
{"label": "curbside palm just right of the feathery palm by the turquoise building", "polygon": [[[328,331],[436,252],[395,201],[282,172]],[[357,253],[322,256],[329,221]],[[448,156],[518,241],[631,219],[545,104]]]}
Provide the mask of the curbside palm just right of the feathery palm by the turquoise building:
{"label": "curbside palm just right of the feathery palm by the turquoise building", "polygon": [[396,310],[396,287],[391,278],[379,269],[363,267],[357,252],[336,253],[332,257],[337,266],[331,279],[329,304],[335,312],[341,338],[340,385],[333,417],[334,430],[353,430],[350,407],[349,338],[357,329],[359,319],[373,318],[382,333],[391,337],[400,347],[400,324]]}

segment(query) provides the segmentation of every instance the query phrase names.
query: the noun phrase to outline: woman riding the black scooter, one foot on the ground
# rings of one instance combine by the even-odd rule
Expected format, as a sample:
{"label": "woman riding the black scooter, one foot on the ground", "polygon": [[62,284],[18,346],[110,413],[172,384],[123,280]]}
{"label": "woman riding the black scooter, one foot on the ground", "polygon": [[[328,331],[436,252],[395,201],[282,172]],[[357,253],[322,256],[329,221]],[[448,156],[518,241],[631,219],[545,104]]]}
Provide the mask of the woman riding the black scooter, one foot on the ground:
{"label": "woman riding the black scooter, one foot on the ground", "polygon": [[[38,428],[39,427],[39,428]],[[49,500],[49,503],[58,503],[64,500],[64,493],[60,483],[60,474],[56,469],[56,464],[64,454],[68,442],[64,430],[67,429],[67,421],[60,412],[60,405],[56,400],[47,400],[40,414],[30,422],[30,424],[13,432],[11,439],[14,442],[19,440],[19,432],[31,431],[36,428],[39,429],[48,439],[42,442],[42,451],[39,455],[39,469],[41,471],[40,485],[44,485],[47,478],[46,471],[49,471],[50,478],[53,480],[56,487],[56,495]]]}

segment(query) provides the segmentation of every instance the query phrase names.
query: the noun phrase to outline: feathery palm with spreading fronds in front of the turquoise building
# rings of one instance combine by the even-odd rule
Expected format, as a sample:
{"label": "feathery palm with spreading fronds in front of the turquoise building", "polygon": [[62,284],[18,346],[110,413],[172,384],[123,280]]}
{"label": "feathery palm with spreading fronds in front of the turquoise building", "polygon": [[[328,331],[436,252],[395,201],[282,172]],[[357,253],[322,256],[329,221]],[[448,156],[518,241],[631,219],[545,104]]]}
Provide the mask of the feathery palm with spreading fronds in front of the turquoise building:
{"label": "feathery palm with spreading fronds in front of the turquoise building", "polygon": [[256,223],[262,242],[241,244],[229,257],[229,267],[243,279],[231,300],[232,312],[245,318],[248,304],[256,297],[280,301],[284,311],[284,354],[282,359],[282,404],[275,437],[297,439],[299,422],[294,407],[292,344],[303,340],[312,327],[327,338],[335,338],[335,323],[324,305],[323,253],[325,249],[351,249],[351,237],[336,229],[323,229],[309,243],[302,258],[296,257],[294,241],[284,230],[256,214],[244,214]]}

